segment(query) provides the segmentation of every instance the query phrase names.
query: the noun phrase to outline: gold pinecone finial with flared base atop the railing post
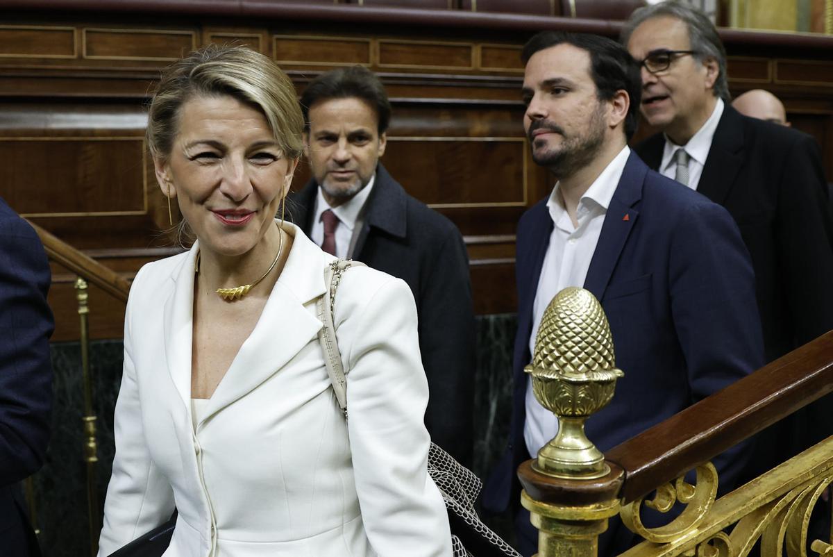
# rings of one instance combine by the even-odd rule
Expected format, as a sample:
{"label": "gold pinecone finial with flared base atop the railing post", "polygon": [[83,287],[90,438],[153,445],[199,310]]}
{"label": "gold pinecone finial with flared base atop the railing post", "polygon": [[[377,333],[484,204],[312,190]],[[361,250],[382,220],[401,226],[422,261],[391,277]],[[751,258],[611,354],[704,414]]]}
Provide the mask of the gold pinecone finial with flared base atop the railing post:
{"label": "gold pinecone finial with flared base atop the railing post", "polygon": [[585,289],[561,290],[546,307],[535,340],[532,392],[558,417],[558,434],[538,451],[533,466],[559,478],[591,479],[610,468],[587,439],[584,422],[611,401],[616,369],[611,329],[598,300]]}

